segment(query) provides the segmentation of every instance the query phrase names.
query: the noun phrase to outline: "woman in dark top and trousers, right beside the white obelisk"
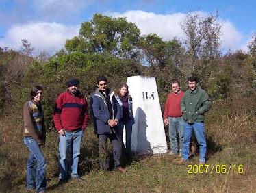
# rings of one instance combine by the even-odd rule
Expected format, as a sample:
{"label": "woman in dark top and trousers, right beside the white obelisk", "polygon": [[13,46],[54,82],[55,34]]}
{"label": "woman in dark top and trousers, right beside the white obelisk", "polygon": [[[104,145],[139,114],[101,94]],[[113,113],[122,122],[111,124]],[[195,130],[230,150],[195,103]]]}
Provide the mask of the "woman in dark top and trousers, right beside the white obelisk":
{"label": "woman in dark top and trousers, right beside the white obelisk", "polygon": [[123,142],[123,128],[125,126],[125,154],[128,159],[132,158],[131,152],[131,133],[132,125],[134,122],[133,111],[132,111],[132,98],[129,95],[128,85],[126,83],[121,84],[119,93],[116,96],[116,100],[119,105],[122,106],[123,117],[118,121],[119,138]]}

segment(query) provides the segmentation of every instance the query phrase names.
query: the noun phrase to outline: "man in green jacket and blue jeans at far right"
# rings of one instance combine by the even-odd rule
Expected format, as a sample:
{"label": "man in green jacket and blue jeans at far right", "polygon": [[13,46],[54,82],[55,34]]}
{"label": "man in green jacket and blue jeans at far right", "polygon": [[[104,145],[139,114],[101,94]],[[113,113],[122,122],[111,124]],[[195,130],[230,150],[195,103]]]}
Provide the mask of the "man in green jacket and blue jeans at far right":
{"label": "man in green jacket and blue jeans at far right", "polygon": [[205,112],[209,111],[212,102],[205,90],[197,87],[196,77],[188,78],[189,89],[181,99],[181,112],[184,120],[184,141],[182,149],[182,159],[179,163],[188,161],[190,153],[190,138],[192,132],[199,143],[199,165],[205,164],[206,140],[205,140]]}

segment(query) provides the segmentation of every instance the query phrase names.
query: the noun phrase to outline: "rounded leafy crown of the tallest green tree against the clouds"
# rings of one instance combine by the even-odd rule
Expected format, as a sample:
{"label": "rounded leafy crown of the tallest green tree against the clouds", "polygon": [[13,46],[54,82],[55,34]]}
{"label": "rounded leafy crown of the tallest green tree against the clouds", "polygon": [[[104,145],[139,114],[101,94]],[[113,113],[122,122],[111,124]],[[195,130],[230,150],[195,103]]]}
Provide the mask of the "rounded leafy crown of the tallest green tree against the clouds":
{"label": "rounded leafy crown of the tallest green tree against the clouds", "polygon": [[136,57],[140,30],[125,18],[94,14],[81,24],[79,36],[66,40],[68,52],[110,53],[118,58]]}

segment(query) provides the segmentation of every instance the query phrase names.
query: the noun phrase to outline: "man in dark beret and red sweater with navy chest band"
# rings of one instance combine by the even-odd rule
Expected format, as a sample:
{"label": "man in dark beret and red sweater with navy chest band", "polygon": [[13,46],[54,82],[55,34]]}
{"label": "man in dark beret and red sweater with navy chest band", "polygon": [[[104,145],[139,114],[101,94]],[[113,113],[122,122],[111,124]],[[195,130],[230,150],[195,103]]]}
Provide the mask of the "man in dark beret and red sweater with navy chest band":
{"label": "man in dark beret and red sweater with navy chest band", "polygon": [[[59,133],[60,181],[65,183],[68,175],[72,179],[84,181],[77,174],[80,146],[84,130],[88,125],[88,104],[79,92],[79,80],[70,79],[66,85],[68,90],[57,97],[53,120]],[[68,153],[71,153],[68,168]]]}

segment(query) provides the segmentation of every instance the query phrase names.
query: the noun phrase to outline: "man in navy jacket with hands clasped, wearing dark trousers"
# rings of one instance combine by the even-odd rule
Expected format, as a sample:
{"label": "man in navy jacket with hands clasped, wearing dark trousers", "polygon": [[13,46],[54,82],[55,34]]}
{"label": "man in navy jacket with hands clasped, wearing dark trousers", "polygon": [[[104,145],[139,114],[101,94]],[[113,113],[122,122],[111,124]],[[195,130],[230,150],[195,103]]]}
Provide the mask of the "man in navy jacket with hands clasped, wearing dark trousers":
{"label": "man in navy jacket with hands clasped, wearing dark trousers", "polygon": [[97,77],[97,86],[97,90],[90,98],[90,105],[94,117],[94,133],[99,138],[99,164],[103,170],[110,170],[106,146],[109,138],[113,146],[114,166],[118,171],[126,172],[120,163],[122,142],[118,138],[116,127],[118,120],[122,118],[121,107],[114,97],[114,91],[107,88],[106,77]]}

